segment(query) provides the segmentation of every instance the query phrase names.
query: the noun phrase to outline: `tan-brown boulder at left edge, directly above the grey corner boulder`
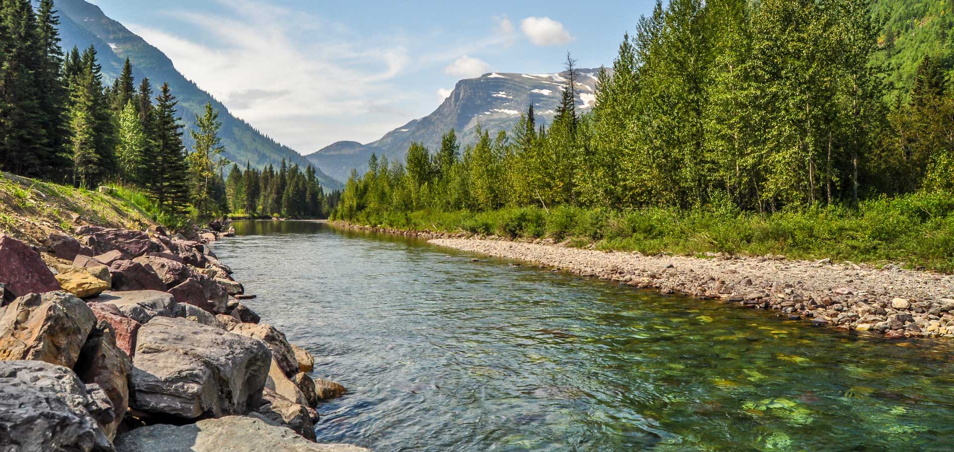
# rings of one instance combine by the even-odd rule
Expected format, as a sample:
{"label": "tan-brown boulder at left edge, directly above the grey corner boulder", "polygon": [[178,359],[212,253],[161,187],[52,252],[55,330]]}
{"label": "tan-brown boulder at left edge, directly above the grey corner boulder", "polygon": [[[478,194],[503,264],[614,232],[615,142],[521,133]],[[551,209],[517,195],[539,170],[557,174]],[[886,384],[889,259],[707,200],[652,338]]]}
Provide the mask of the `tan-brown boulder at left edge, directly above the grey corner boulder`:
{"label": "tan-brown boulder at left edge, directly above the grey corner boulder", "polygon": [[96,318],[64,292],[13,300],[0,317],[0,360],[41,360],[73,367]]}

